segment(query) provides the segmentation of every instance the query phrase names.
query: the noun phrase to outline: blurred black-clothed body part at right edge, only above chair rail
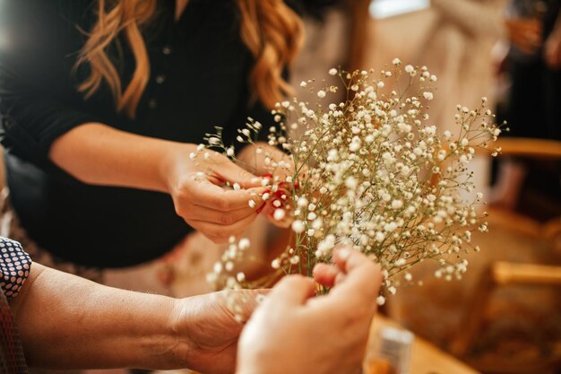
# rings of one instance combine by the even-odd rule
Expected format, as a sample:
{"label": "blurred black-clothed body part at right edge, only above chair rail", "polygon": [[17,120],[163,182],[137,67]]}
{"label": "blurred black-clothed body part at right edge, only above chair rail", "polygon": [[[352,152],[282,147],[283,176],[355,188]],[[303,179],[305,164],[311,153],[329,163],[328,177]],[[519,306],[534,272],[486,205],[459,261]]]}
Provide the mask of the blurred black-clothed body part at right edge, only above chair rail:
{"label": "blurred black-clothed body part at right edge, only above chair rail", "polygon": [[505,119],[511,135],[561,140],[561,21],[558,0],[514,0],[506,24],[511,90]]}

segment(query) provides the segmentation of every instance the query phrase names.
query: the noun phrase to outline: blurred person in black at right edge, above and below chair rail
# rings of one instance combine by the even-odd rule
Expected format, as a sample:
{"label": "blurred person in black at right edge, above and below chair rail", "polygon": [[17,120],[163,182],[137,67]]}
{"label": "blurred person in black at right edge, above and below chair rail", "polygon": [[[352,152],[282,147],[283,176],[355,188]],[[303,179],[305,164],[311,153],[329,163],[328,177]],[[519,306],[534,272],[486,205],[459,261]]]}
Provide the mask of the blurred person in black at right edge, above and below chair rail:
{"label": "blurred person in black at right edge, above and below chair rail", "polygon": [[[511,85],[504,112],[499,113],[510,129],[505,136],[561,140],[560,9],[558,0],[513,0],[508,7],[510,49],[503,65]],[[548,220],[561,209],[559,166],[528,162],[515,158],[499,162],[492,204]],[[523,189],[538,189],[540,198],[521,204]]]}

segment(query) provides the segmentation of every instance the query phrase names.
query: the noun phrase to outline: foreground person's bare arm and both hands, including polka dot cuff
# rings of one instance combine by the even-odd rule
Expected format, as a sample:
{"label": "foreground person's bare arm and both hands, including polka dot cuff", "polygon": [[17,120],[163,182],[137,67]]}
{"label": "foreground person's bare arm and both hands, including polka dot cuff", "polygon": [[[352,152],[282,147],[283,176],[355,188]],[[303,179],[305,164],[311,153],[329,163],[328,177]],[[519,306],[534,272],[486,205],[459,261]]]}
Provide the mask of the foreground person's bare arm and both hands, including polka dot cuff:
{"label": "foreground person's bare arm and both hands, including polka dot cuff", "polygon": [[25,360],[51,369],[358,373],[382,281],[378,265],[339,248],[333,265],[314,270],[316,282],[332,287],[326,296],[314,297],[314,280],[291,275],[252,314],[255,296],[264,291],[237,291],[250,300],[243,326],[226,306],[234,293],[172,299],[117,290],[31,265],[13,240],[1,238],[0,248],[0,368],[6,374],[25,372]]}

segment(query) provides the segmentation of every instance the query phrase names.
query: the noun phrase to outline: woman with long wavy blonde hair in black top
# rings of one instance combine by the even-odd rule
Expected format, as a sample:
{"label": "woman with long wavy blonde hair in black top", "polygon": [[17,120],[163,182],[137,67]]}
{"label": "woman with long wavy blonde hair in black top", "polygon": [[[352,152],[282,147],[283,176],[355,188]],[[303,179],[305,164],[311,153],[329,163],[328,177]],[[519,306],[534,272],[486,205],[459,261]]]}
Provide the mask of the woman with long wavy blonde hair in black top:
{"label": "woman with long wavy blonde hair in black top", "polygon": [[300,30],[282,0],[0,2],[4,234],[84,275],[241,233],[264,171],[189,154],[214,126],[271,126]]}

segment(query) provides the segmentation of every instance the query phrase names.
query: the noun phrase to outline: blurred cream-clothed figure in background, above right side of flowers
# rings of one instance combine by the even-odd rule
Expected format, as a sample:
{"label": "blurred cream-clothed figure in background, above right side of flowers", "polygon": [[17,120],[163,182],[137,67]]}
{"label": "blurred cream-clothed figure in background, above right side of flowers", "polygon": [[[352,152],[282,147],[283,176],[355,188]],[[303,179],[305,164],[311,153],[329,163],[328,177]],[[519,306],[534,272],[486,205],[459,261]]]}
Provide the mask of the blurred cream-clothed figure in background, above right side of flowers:
{"label": "blurred cream-clothed figure in background, above right side of flowers", "polygon": [[453,116],[458,104],[479,108],[488,97],[493,108],[495,71],[491,50],[505,34],[502,12],[506,0],[432,0],[435,22],[419,45],[417,65],[436,74],[436,99],[427,113],[440,131],[457,135]]}

